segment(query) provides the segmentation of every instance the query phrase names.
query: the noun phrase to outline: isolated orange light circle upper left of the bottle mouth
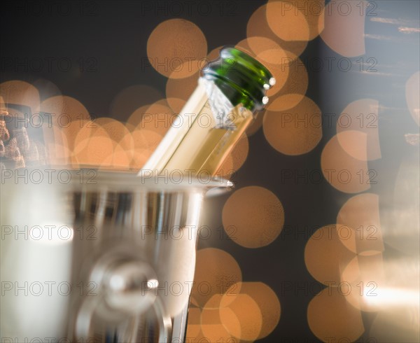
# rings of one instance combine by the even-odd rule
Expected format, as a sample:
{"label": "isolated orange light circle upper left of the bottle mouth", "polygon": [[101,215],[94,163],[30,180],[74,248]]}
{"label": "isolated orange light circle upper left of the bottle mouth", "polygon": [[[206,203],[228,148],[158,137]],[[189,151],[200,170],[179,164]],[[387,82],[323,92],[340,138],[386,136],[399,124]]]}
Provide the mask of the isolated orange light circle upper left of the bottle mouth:
{"label": "isolated orange light circle upper left of the bottle mouth", "polygon": [[171,78],[192,76],[207,55],[207,41],[199,27],[184,19],[160,23],[148,38],[147,55],[156,71]]}

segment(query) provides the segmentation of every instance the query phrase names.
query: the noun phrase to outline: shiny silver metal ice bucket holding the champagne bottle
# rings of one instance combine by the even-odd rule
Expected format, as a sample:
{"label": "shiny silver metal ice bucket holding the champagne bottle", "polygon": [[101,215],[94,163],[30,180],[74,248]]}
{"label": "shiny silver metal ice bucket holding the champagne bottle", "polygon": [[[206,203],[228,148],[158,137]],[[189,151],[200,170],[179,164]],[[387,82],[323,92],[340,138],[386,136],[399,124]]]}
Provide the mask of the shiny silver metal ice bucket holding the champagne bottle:
{"label": "shiny silver metal ice bucket holding the champagne bottle", "polygon": [[[62,342],[182,342],[202,201],[204,195],[228,190],[232,184],[181,175],[140,178],[126,172],[68,173],[71,182],[65,184],[43,182],[34,188],[5,182],[22,202],[28,194],[40,194],[41,202],[34,202],[31,209],[41,211],[37,222],[71,225],[68,310],[62,302],[55,311],[67,328],[62,335],[53,324],[56,337],[65,337]],[[2,223],[3,219],[2,215]],[[16,216],[6,218],[6,224],[13,221]],[[57,255],[52,253],[50,258]],[[2,267],[3,260],[2,256]],[[42,271],[52,265],[54,260],[49,260],[36,268]],[[17,300],[9,297],[6,311],[13,311]],[[31,315],[37,316],[36,311]],[[13,327],[10,323],[6,329]],[[51,337],[48,328],[38,332],[38,337]],[[18,325],[13,330],[10,336],[22,339],[22,328]]]}

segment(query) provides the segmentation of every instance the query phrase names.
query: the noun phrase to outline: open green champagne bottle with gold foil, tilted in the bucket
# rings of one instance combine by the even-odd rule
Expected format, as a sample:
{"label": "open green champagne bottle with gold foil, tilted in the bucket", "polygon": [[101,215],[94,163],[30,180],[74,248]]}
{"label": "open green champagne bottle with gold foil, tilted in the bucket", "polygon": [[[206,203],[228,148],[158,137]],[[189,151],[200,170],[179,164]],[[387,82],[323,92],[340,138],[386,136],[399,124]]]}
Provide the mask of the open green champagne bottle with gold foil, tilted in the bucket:
{"label": "open green champagne bottle with gold foil, tilted in the bucket", "polygon": [[255,113],[267,104],[265,91],[275,82],[253,57],[223,48],[204,67],[197,88],[139,174],[215,176]]}

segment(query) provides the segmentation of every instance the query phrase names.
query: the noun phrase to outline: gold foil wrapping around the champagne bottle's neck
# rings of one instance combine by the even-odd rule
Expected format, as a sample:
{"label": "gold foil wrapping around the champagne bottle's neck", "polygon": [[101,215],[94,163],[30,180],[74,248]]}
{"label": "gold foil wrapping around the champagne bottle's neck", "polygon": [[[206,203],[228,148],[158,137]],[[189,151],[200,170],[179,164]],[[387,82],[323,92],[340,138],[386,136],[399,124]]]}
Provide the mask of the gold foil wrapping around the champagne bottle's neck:
{"label": "gold foil wrapping around the champagne bottle's neck", "polygon": [[217,118],[211,109],[206,87],[199,82],[143,170],[153,174],[167,170],[193,176],[216,175],[252,122],[253,112],[238,104],[224,120],[225,123],[221,123],[223,118]]}

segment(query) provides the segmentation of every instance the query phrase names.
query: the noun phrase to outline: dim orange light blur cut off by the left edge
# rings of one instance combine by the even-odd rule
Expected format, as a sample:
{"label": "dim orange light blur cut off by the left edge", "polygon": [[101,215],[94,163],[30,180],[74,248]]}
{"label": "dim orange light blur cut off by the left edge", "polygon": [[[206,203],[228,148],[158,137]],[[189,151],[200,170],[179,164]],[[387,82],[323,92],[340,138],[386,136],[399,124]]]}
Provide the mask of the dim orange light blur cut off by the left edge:
{"label": "dim orange light blur cut off by the left edge", "polygon": [[10,80],[0,83],[0,96],[6,104],[29,106],[32,113],[39,107],[39,92],[30,83],[20,80]]}

